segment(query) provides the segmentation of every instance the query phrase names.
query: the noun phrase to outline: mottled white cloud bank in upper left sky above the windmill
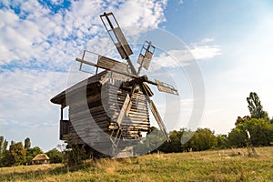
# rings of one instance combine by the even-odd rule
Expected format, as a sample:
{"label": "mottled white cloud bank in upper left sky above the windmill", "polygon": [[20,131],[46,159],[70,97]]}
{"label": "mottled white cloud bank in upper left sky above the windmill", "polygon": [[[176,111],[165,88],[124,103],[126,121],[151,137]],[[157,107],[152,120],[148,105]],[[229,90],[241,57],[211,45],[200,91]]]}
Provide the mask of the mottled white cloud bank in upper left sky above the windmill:
{"label": "mottled white cloud bank in upper left sky above the windmill", "polygon": [[[57,5],[60,2],[52,3]],[[48,7],[35,0],[17,1],[11,6],[20,8],[20,15],[15,15],[13,10],[7,8],[8,5],[0,10],[0,64],[15,62],[18,66],[25,66],[35,60],[37,65],[67,69],[71,60],[81,55],[92,36],[105,32],[99,18],[102,12],[113,11],[122,26],[157,26],[165,20],[166,5],[166,1],[116,4],[112,1],[83,0],[71,2],[69,10],[53,14]],[[21,16],[25,18],[19,18]]]}

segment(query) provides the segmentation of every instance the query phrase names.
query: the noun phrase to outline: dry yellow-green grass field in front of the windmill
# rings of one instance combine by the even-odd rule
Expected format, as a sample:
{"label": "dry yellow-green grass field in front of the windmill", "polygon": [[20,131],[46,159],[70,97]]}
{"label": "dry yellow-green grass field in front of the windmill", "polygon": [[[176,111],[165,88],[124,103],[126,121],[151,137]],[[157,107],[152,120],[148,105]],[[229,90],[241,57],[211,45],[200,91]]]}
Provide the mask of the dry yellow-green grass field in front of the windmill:
{"label": "dry yellow-green grass field in front of the windmill", "polygon": [[[273,181],[273,147],[154,154],[62,164],[0,168],[0,181]],[[240,155],[238,155],[238,152]]]}

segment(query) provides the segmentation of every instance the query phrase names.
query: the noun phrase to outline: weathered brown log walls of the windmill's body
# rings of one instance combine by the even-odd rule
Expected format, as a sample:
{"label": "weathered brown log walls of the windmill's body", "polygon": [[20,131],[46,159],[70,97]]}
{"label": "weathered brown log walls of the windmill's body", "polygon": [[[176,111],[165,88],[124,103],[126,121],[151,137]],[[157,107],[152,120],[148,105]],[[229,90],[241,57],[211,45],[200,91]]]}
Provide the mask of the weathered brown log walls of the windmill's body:
{"label": "weathered brown log walls of the windmill's body", "polygon": [[[68,88],[64,91],[66,99],[64,92],[53,98],[57,104],[66,102],[69,106],[69,144],[110,147],[110,135],[114,130],[116,136],[116,121],[130,91],[122,83],[120,76],[113,77],[106,72]],[[139,88],[131,96],[131,102],[121,122],[124,140],[140,138],[140,132],[147,132],[150,126],[146,97]]]}

